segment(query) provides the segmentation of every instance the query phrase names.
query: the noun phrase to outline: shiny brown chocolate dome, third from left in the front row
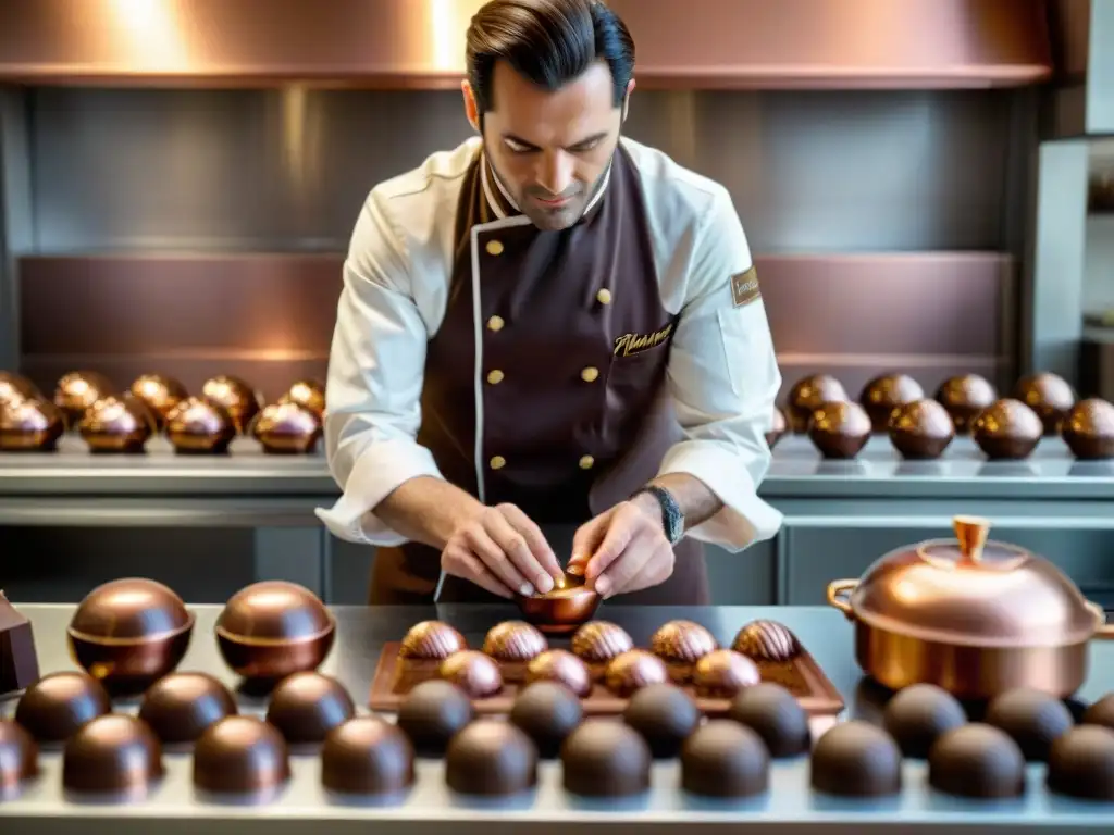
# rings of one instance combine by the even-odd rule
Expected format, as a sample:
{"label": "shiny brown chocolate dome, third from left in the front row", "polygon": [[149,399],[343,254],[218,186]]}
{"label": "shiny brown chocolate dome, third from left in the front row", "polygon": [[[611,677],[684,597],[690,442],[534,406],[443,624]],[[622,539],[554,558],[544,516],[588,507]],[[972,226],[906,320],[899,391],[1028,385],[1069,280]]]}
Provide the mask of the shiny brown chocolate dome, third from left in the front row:
{"label": "shiny brown chocolate dome, third from left in the front row", "polygon": [[229,716],[194,746],[194,785],[218,794],[271,792],[290,778],[286,740],[254,716]]}

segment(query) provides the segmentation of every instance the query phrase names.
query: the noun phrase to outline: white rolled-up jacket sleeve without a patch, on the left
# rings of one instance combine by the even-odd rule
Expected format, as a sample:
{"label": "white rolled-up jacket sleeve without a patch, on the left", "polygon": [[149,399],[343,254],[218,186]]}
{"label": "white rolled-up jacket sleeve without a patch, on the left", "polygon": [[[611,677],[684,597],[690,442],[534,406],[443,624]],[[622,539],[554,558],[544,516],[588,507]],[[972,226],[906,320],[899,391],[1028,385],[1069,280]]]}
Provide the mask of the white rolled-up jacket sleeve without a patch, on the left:
{"label": "white rolled-up jacket sleeve without a patch, on the left", "polygon": [[412,478],[441,478],[416,441],[429,331],[384,200],[374,191],[368,198],[344,262],[324,422],[329,469],[344,492],[331,509],[316,511],[335,536],[375,546],[405,539],[372,509]]}

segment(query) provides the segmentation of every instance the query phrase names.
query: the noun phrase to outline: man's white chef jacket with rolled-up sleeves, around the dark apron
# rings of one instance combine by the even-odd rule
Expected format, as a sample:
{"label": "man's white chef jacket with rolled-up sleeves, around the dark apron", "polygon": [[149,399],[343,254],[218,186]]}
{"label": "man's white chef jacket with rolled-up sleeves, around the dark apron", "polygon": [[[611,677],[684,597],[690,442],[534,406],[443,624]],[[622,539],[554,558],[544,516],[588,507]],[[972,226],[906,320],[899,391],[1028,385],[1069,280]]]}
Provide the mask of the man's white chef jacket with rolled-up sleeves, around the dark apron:
{"label": "man's white chef jacket with rolled-up sleeves, around the dark apron", "polygon": [[[770,465],[781,373],[761,296],[735,304],[732,277],[753,264],[727,190],[662,151],[620,140],[638,170],[663,305],[680,321],[666,386],[683,439],[659,473],[690,473],[724,507],[687,536],[729,551],[773,537],[782,515],[758,497]],[[352,233],[329,362],[324,422],[330,471],[343,495],[317,517],[351,542],[398,546],[405,538],[372,509],[409,479],[443,478],[418,444],[427,343],[444,316],[456,214],[480,140],[428,157],[375,186]],[[485,184],[487,185],[487,184]],[[472,283],[479,298],[477,230],[528,223],[500,218],[473,227]],[[477,396],[483,335],[475,307]],[[481,421],[482,413],[477,410]],[[482,423],[477,438],[482,438]],[[477,444],[476,472],[485,466]],[[587,521],[587,520],[585,520]]]}

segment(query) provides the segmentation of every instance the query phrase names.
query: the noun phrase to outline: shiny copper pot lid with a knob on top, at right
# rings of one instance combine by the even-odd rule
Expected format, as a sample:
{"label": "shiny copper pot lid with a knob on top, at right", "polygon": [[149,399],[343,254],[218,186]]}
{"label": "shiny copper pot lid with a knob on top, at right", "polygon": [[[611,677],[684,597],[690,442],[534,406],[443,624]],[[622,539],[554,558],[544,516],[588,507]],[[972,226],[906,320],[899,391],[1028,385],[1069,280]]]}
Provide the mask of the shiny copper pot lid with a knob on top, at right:
{"label": "shiny copper pot lid with a knob on top, at right", "polygon": [[990,523],[956,517],[956,539],[891,551],[850,597],[854,617],[926,641],[994,648],[1089,639],[1097,607],[1043,557],[988,541]]}

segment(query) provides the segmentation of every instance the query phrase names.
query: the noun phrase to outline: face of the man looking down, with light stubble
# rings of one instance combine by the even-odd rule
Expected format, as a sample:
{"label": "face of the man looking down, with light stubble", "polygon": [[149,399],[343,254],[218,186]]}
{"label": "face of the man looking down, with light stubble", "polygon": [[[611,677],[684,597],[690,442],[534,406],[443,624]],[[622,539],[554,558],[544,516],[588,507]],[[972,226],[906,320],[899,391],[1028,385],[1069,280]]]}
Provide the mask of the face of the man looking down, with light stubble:
{"label": "face of the man looking down, with light stubble", "polygon": [[[632,80],[627,98],[633,89]],[[615,106],[610,69],[599,61],[548,92],[499,61],[491,100],[481,129],[476,99],[465,82],[468,120],[481,130],[500,183],[538,228],[571,226],[595,196],[626,117],[626,99]]]}

